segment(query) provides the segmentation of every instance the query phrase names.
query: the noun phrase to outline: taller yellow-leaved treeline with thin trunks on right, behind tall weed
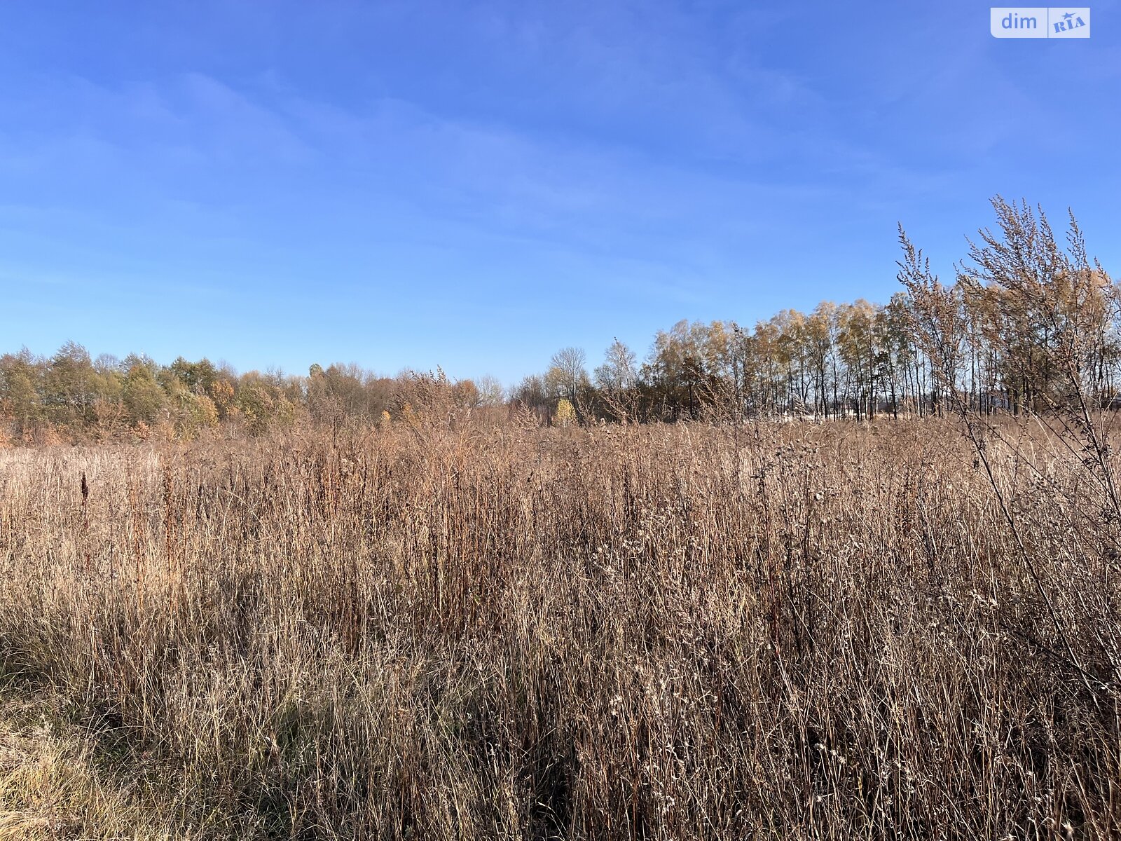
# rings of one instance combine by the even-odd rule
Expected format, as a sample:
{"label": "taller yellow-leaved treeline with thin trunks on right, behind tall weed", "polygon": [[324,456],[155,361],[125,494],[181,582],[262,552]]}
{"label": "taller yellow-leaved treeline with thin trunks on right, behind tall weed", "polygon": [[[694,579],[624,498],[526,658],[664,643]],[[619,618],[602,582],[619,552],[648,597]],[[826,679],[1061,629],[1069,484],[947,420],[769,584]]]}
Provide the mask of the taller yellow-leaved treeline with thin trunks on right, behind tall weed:
{"label": "taller yellow-leaved treeline with thin trunks on right, behind tall weed", "polygon": [[[856,419],[1114,406],[1121,295],[1086,255],[1071,216],[1066,244],[1041,211],[993,200],[952,285],[900,229],[902,290],[884,305],[824,302],[753,329],[679,322],[646,361],[620,342],[591,376],[578,349],[515,391],[543,417],[675,420],[712,416]],[[559,408],[558,408],[559,407]]]}

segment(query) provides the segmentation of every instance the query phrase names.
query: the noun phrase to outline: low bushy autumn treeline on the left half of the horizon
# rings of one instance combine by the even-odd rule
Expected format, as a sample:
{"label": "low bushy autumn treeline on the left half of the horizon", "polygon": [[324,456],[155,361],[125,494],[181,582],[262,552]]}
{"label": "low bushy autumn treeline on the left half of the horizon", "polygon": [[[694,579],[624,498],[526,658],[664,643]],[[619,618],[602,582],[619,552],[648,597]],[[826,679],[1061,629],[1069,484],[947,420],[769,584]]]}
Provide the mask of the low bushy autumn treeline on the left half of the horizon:
{"label": "low bushy autumn treeline on the left half of the horizon", "polygon": [[0,357],[0,443],[193,438],[215,429],[259,435],[298,422],[415,423],[434,412],[447,419],[501,404],[491,378],[452,382],[442,372],[387,378],[354,364],[313,364],[305,377],[238,375],[207,359],[92,359],[74,342],[52,357],[27,349]]}

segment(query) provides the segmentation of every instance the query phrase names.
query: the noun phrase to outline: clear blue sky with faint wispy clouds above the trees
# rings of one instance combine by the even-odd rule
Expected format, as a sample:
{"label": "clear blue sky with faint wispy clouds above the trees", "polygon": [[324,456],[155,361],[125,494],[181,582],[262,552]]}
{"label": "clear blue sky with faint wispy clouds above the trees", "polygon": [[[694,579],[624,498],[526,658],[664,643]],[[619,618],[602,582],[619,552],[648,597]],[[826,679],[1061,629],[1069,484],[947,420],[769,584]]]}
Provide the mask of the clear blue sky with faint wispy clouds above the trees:
{"label": "clear blue sky with faint wispy clouds above the trees", "polygon": [[1121,265],[1121,2],[0,3],[0,351],[510,382],[886,301],[988,198]]}

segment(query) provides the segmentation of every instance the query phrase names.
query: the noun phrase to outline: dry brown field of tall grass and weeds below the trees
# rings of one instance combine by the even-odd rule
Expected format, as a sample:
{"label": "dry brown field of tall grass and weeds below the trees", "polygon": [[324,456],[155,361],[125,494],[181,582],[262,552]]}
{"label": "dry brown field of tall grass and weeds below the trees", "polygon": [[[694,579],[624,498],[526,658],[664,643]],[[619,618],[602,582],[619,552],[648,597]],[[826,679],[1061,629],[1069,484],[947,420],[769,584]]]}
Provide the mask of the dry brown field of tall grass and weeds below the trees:
{"label": "dry brown field of tall grass and weeds below the trees", "polygon": [[0,451],[0,839],[1115,838],[1121,525],[1009,436]]}

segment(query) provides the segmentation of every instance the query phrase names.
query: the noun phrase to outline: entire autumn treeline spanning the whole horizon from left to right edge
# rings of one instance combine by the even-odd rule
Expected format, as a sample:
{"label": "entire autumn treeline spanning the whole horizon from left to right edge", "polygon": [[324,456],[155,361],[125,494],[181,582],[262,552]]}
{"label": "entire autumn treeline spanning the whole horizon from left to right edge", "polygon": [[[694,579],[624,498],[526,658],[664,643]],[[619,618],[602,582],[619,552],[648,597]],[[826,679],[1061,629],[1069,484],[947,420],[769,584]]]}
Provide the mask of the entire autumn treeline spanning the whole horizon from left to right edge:
{"label": "entire autumn treeline spanning the whole horizon from left to right edge", "polygon": [[655,336],[641,363],[617,340],[591,371],[583,350],[566,348],[509,392],[492,378],[386,378],[356,366],[239,376],[205,359],[93,360],[70,343],[50,358],[26,350],[0,357],[0,415],[9,440],[27,441],[191,437],[220,426],[259,434],[300,419],[443,422],[502,408],[566,425],[1113,406],[1121,363],[1117,285],[1090,261],[1073,216],[1063,246],[1041,212],[1000,197],[993,206],[995,232],[980,232],[953,284],[932,275],[900,230],[902,290],[887,304],[824,302],[754,327],[683,321]]}

